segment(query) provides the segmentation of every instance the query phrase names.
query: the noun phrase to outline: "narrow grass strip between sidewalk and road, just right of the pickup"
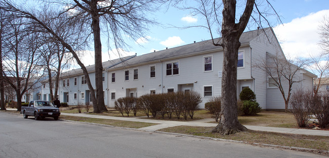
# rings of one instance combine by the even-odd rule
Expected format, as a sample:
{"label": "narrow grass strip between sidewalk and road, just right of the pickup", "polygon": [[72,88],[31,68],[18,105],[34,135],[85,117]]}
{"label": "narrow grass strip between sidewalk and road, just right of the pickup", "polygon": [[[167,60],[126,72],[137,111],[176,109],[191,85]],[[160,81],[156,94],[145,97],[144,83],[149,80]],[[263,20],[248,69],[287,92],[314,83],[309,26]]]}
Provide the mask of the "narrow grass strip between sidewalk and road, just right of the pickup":
{"label": "narrow grass strip between sidewalk and road, just right of the pickup", "polygon": [[115,127],[136,128],[136,129],[157,125],[157,124],[145,123],[145,122],[108,120],[108,119],[85,118],[85,117],[74,117],[74,116],[63,116],[63,115],[61,115],[59,119],[78,121],[78,122],[89,122],[89,123],[96,123],[102,125],[110,125]]}

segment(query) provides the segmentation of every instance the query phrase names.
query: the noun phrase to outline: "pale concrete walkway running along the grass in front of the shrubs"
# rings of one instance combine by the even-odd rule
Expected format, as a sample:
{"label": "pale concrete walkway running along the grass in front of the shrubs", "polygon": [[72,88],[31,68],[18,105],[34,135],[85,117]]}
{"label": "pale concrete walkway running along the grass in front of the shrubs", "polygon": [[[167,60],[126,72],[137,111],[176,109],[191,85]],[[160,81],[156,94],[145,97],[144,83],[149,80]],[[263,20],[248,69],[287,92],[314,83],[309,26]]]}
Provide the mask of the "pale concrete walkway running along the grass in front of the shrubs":
{"label": "pale concrete walkway running along the grass in front of the shrubs", "polygon": [[[134,122],[147,122],[155,123],[158,125],[148,126],[140,128],[146,131],[156,131],[162,128],[175,127],[175,126],[200,126],[200,127],[215,127],[217,123],[207,123],[214,121],[214,119],[203,119],[196,121],[165,121],[165,120],[151,120],[143,119],[141,117],[129,118],[129,117],[112,117],[112,116],[100,116],[100,115],[90,115],[90,114],[69,114],[61,113],[64,116],[77,116],[77,117],[87,117],[87,118],[98,118],[98,119],[110,119],[110,120],[122,120],[122,121],[134,121]],[[255,131],[266,131],[266,132],[276,132],[276,133],[290,133],[290,134],[304,134],[304,135],[318,135],[318,136],[329,136],[329,131],[323,130],[311,130],[311,129],[297,129],[297,128],[279,128],[279,127],[266,127],[266,126],[248,126],[246,128]]]}

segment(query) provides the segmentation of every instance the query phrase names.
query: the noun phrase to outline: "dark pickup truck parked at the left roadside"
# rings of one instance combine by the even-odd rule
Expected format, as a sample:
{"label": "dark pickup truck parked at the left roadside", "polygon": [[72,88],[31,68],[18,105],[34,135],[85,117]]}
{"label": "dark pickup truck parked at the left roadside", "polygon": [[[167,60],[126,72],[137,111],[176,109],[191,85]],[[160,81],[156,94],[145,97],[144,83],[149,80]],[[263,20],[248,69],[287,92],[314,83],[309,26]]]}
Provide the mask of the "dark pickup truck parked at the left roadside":
{"label": "dark pickup truck parked at the left roadside", "polygon": [[50,101],[30,101],[27,107],[22,106],[21,114],[24,115],[24,119],[28,116],[34,116],[35,120],[39,118],[51,117],[54,120],[58,120],[59,112],[58,108],[55,108],[53,103]]}

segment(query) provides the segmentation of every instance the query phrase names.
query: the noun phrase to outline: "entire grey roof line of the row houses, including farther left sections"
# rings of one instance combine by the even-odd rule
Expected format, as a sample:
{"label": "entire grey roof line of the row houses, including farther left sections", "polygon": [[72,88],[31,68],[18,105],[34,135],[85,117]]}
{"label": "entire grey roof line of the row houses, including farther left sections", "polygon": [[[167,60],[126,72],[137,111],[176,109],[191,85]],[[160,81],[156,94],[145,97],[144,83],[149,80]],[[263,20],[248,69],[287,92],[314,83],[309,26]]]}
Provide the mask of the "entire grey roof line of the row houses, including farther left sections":
{"label": "entire grey roof line of the row houses, including farther left sections", "polygon": [[[248,45],[251,40],[256,38],[259,34],[264,33],[270,28],[264,28],[259,30],[253,30],[248,32],[243,32],[240,36],[241,46]],[[214,39],[215,42],[221,43],[221,38]],[[202,54],[203,52],[218,51],[223,49],[222,46],[215,46],[212,40],[205,40],[201,42],[195,42],[191,44],[186,44],[182,46],[177,46],[174,48],[169,48],[165,50],[150,52],[141,56],[128,56],[120,59],[115,59],[107,62],[103,62],[104,70],[113,70],[118,68],[129,67],[138,64],[144,64],[148,62],[156,62],[160,60],[169,60],[172,58],[177,58],[181,56],[192,56],[195,54]],[[87,71],[95,72],[95,65],[90,65],[86,67]],[[82,69],[74,69],[62,73],[62,77],[70,77],[76,75],[83,75]]]}

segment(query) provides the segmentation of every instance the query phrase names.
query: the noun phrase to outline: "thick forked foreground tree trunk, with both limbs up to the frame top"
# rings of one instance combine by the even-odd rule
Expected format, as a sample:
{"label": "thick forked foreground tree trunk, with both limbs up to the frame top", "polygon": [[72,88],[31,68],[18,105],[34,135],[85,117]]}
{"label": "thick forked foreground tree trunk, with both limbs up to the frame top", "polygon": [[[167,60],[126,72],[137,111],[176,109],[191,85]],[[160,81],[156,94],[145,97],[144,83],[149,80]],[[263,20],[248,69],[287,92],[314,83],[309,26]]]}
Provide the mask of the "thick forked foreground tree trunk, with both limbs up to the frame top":
{"label": "thick forked foreground tree trunk, with both limbs up to the frame top", "polygon": [[223,0],[222,46],[223,46],[223,76],[221,91],[221,117],[219,124],[211,131],[222,135],[245,131],[237,120],[237,55],[241,45],[239,38],[248,24],[255,0],[248,0],[239,23],[235,23],[235,0]]}

